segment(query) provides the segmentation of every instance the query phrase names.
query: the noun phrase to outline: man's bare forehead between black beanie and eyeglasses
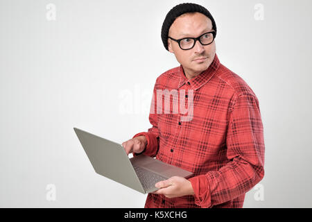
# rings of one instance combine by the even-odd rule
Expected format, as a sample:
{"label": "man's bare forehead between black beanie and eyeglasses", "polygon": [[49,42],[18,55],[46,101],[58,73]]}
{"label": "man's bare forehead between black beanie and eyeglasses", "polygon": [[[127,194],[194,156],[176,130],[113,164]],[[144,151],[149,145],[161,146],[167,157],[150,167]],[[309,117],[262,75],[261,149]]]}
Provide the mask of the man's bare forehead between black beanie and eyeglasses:
{"label": "man's bare forehead between black beanie and eyeglasses", "polygon": [[169,29],[169,35],[177,38],[196,37],[204,31],[211,31],[212,22],[200,12],[185,13],[177,17]]}

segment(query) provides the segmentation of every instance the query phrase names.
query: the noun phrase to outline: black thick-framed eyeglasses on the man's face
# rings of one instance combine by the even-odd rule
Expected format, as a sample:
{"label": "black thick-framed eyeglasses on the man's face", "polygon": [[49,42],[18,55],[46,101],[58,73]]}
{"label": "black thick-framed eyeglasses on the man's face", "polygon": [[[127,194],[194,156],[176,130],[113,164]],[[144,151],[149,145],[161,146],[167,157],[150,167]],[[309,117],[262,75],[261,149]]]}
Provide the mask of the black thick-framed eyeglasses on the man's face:
{"label": "black thick-framed eyeglasses on the man's face", "polygon": [[212,42],[214,42],[215,37],[216,37],[216,31],[210,31],[208,33],[204,33],[200,35],[199,37],[184,37],[180,40],[175,40],[172,37],[168,36],[168,38],[177,42],[182,50],[193,49],[193,46],[195,46],[197,40],[200,42],[200,44],[207,46],[208,44],[211,44]]}

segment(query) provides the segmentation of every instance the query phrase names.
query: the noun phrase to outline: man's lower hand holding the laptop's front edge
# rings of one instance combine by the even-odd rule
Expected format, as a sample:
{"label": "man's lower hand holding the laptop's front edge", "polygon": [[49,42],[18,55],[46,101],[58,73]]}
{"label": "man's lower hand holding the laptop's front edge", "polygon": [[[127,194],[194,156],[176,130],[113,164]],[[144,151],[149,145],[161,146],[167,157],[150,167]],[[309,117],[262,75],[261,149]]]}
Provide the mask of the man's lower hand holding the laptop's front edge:
{"label": "man's lower hand holding the laptop's front edge", "polygon": [[153,194],[164,194],[167,198],[194,194],[191,182],[180,176],[173,176],[168,180],[159,181],[155,187],[160,189],[153,192]]}

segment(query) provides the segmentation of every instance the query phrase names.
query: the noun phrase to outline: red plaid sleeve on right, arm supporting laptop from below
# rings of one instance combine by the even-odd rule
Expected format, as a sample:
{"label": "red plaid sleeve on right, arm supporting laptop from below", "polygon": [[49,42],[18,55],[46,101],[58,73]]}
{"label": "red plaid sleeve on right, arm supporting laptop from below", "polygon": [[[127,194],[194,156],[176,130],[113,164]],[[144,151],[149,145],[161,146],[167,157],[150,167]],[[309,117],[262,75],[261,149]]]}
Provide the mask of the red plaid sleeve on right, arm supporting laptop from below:
{"label": "red plaid sleeve on right, arm supporting laptop from below", "polygon": [[264,176],[263,124],[252,94],[234,99],[227,128],[227,159],[218,171],[190,178],[196,205],[212,207],[252,189]]}

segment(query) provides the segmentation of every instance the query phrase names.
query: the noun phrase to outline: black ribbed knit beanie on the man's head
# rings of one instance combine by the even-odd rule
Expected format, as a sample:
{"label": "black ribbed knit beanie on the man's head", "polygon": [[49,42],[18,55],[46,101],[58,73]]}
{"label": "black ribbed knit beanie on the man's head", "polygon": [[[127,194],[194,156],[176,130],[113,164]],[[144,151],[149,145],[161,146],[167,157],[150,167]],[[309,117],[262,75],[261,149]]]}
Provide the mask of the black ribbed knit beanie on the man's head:
{"label": "black ribbed knit beanie on the man's head", "polygon": [[214,28],[214,31],[216,31],[216,22],[214,22],[214,18],[210,14],[209,10],[207,10],[207,8],[202,7],[196,3],[180,3],[168,12],[166,18],[164,19],[164,23],[162,24],[162,42],[164,43],[166,50],[168,50],[169,28],[177,17],[186,12],[200,12],[206,15],[212,22],[212,28]]}

